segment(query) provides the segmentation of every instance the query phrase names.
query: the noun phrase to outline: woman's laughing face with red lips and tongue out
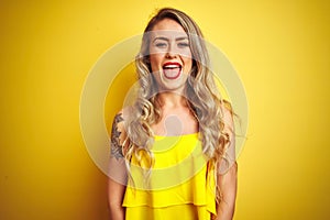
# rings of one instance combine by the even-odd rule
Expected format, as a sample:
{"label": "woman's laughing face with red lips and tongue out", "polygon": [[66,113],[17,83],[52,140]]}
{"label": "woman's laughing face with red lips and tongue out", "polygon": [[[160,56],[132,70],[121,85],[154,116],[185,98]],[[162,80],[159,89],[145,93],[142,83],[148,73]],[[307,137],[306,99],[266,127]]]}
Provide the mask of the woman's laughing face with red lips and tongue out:
{"label": "woman's laughing face with red lips and tongue out", "polygon": [[193,61],[188,35],[176,21],[164,19],[153,28],[150,62],[160,89],[183,92]]}

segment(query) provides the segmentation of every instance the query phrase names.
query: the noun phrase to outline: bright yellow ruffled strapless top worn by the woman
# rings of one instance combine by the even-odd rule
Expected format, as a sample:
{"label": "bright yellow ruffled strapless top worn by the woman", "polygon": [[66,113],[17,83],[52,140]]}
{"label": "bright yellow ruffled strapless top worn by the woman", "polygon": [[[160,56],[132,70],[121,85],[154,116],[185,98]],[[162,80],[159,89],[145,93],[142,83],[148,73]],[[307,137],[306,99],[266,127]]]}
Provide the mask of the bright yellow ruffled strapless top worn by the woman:
{"label": "bright yellow ruffled strapless top worn by the woman", "polygon": [[156,135],[150,177],[143,175],[148,163],[143,154],[132,157],[133,182],[123,200],[127,220],[210,220],[216,215],[215,172],[208,170],[198,135]]}

